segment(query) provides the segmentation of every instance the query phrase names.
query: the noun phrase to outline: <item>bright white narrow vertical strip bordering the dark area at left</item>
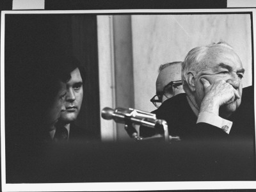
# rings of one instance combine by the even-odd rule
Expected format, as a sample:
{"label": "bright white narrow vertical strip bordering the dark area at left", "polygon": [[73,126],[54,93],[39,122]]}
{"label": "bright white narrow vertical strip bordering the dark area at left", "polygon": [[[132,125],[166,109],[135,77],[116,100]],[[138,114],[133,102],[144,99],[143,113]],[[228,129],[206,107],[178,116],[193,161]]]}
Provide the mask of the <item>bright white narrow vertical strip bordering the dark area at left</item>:
{"label": "bright white narrow vertical strip bordering the dark area at left", "polygon": [[[99,55],[99,92],[100,113],[103,108],[115,108],[115,63],[113,46],[113,17],[97,16],[97,36]],[[116,124],[113,120],[100,118],[100,134],[102,141],[116,140]]]}

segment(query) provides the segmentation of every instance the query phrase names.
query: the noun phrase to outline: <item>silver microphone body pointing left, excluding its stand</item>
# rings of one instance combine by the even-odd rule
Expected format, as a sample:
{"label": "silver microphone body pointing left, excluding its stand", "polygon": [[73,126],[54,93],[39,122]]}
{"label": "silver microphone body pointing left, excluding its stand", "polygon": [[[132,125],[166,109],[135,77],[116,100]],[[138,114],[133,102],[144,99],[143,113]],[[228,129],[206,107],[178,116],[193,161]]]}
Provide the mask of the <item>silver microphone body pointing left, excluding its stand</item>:
{"label": "silver microphone body pointing left, excluding its stand", "polygon": [[156,114],[140,111],[132,108],[104,108],[101,112],[102,118],[113,119],[116,123],[128,124],[129,122],[154,128],[156,125]]}

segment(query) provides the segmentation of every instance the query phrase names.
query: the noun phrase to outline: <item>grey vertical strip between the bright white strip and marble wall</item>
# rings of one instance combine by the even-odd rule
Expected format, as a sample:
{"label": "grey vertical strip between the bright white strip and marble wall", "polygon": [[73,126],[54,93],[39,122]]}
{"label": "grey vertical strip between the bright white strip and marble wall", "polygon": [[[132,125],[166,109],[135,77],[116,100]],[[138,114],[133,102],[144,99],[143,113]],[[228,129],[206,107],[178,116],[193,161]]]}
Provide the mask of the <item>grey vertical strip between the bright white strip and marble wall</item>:
{"label": "grey vertical strip between the bright white strip and marble wall", "polygon": [[[116,107],[133,108],[131,15],[113,15]],[[124,124],[116,124],[116,139],[130,140]]]}

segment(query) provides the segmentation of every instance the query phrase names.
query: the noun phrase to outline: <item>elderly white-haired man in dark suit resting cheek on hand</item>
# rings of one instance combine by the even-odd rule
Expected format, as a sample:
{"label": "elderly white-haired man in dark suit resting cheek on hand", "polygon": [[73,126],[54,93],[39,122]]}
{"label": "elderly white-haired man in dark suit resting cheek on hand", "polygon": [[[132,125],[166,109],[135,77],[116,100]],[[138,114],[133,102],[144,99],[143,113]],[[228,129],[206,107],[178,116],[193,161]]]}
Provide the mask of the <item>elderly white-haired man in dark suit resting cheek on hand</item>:
{"label": "elderly white-haired man in dark suit resting cheek on hand", "polygon": [[154,113],[181,141],[253,141],[253,104],[241,104],[243,76],[241,60],[227,43],[195,47],[182,63],[186,93],[164,101]]}

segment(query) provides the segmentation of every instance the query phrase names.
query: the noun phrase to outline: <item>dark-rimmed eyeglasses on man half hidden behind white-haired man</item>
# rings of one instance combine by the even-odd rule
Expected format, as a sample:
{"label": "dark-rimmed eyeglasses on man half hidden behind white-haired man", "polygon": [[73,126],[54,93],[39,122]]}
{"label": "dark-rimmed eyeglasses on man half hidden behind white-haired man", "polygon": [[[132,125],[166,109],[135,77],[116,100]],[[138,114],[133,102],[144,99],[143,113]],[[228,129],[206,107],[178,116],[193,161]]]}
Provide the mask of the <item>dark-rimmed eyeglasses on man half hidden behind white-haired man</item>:
{"label": "dark-rimmed eyeglasses on man half hidden behind white-haired man", "polygon": [[154,106],[156,106],[156,108],[159,108],[159,106],[161,106],[162,104],[163,95],[166,98],[170,98],[166,93],[174,93],[174,88],[177,88],[177,86],[180,85],[182,85],[182,80],[171,81],[170,83],[166,84],[166,86],[164,86],[162,92],[159,92],[156,95],[154,95],[154,97],[150,99],[150,102],[152,102]]}

